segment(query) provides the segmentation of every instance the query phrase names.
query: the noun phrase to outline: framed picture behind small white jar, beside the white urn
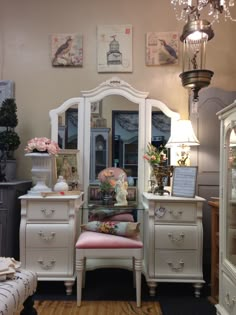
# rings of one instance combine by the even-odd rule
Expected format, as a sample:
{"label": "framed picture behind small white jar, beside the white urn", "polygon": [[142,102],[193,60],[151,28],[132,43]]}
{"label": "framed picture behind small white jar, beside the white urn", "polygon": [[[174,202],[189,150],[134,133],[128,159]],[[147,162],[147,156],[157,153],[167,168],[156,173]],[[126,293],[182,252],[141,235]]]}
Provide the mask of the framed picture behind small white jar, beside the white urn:
{"label": "framed picture behind small white jar, beside the white urn", "polygon": [[60,150],[56,156],[56,177],[63,176],[70,185],[79,181],[79,150]]}

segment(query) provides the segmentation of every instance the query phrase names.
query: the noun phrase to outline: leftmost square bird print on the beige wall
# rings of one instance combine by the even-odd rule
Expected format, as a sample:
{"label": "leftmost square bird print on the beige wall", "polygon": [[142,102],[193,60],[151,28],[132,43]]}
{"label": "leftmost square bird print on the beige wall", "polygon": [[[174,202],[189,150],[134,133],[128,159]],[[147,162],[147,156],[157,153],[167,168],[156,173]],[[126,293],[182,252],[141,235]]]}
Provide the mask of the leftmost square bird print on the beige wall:
{"label": "leftmost square bird print on the beige wall", "polygon": [[83,37],[78,34],[51,35],[52,65],[81,67],[83,65]]}

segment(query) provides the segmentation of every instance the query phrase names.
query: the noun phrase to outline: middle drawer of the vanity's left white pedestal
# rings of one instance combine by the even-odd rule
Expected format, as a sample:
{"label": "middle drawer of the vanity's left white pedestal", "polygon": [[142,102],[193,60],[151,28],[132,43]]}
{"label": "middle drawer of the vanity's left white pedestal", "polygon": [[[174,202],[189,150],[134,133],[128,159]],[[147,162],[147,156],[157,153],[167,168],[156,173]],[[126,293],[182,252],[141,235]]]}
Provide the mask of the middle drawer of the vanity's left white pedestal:
{"label": "middle drawer of the vanity's left white pedestal", "polygon": [[68,247],[69,224],[27,224],[26,247]]}

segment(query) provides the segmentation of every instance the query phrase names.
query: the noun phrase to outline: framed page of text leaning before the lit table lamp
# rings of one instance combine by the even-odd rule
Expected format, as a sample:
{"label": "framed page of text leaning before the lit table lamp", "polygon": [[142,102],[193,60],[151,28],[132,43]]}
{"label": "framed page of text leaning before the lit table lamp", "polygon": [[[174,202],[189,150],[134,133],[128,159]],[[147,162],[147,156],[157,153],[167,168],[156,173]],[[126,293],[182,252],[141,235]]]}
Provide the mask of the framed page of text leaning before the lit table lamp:
{"label": "framed page of text leaning before the lit table lamp", "polygon": [[194,198],[196,195],[197,166],[175,166],[171,195],[175,197]]}

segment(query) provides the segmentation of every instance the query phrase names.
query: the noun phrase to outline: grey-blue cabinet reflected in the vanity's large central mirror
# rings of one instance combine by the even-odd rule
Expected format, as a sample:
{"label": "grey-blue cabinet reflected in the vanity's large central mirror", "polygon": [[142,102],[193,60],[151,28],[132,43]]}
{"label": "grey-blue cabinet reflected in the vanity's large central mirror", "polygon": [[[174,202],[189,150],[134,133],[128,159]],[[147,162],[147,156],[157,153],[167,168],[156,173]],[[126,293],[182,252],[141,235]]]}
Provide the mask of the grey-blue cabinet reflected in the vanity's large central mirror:
{"label": "grey-blue cabinet reflected in the vanity's large central mirror", "polygon": [[91,128],[90,183],[98,182],[98,174],[108,167],[110,128]]}

